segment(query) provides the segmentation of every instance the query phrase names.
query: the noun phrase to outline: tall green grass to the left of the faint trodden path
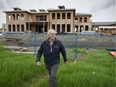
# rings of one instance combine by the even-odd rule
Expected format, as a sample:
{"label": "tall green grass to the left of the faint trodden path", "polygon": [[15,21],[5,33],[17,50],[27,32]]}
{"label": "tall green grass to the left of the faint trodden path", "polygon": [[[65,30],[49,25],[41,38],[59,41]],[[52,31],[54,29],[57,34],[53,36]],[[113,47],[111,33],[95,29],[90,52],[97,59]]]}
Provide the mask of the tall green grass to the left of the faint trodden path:
{"label": "tall green grass to the left of the faint trodden path", "polygon": [[35,55],[0,51],[0,87],[23,87],[45,72],[35,65]]}

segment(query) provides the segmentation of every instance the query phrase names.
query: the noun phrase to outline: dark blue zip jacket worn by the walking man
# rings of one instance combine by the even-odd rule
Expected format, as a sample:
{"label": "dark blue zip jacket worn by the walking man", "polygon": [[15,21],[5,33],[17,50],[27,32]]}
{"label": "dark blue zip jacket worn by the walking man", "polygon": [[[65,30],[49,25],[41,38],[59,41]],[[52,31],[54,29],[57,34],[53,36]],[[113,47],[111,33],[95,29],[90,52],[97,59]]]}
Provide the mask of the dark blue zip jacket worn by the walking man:
{"label": "dark blue zip jacket worn by the walking man", "polygon": [[61,41],[55,39],[51,52],[49,40],[46,40],[41,44],[40,49],[38,50],[36,62],[40,61],[42,54],[44,54],[44,62],[46,64],[59,64],[60,52],[62,53],[64,62],[66,62],[66,52]]}

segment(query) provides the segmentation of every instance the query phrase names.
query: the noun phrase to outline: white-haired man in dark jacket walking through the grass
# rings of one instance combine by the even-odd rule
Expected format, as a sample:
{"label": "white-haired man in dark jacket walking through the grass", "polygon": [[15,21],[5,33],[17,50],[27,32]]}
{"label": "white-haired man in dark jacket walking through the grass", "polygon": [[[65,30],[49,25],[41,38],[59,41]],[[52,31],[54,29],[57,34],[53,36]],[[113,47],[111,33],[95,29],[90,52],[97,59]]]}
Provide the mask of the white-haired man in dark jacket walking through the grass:
{"label": "white-haired man in dark jacket walking through the grass", "polygon": [[56,32],[53,29],[48,30],[48,39],[44,41],[37,54],[37,66],[41,65],[40,59],[44,54],[44,62],[50,75],[50,87],[56,87],[56,72],[60,63],[60,52],[62,53],[64,63],[67,64],[66,52],[61,41],[56,39]]}

